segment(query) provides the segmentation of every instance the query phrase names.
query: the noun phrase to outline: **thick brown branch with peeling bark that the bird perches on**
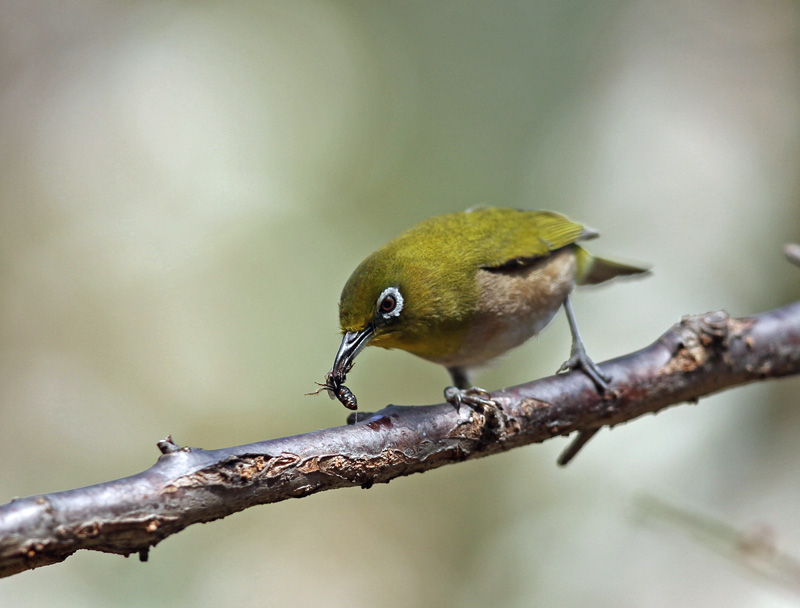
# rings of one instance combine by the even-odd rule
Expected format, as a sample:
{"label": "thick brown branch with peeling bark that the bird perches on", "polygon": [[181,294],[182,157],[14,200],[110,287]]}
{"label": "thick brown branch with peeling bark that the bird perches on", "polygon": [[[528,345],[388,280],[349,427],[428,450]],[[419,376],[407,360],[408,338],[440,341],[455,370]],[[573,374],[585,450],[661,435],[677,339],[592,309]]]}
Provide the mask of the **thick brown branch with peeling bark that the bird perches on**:
{"label": "thick brown branch with peeling bark that the bird perches on", "polygon": [[167,536],[254,505],[368,488],[797,374],[800,302],[743,319],[724,312],[685,317],[652,345],[601,368],[612,378],[602,395],[572,372],[492,393],[499,408],[482,411],[389,406],[349,426],[212,451],[167,438],[158,444],[158,462],[138,475],[0,506],[0,576],[79,549],[145,560]]}

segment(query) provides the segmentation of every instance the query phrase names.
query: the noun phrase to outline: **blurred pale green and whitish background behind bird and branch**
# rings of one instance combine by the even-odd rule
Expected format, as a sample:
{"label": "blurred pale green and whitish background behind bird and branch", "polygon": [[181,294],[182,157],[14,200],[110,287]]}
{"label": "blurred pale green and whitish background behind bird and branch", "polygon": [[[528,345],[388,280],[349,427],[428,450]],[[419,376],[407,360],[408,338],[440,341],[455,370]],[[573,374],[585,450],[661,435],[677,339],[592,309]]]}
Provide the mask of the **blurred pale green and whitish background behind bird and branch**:
{"label": "blurred pale green and whitish background behind bird and branch", "polygon": [[[339,291],[415,222],[553,209],[652,264],[587,290],[592,356],[800,295],[797,2],[0,1],[0,502],[342,424],[305,397]],[[563,316],[476,378],[548,375]],[[443,369],[368,350],[362,409]],[[800,555],[797,380],[388,486],[81,552],[2,606],[789,606],[646,493]]]}

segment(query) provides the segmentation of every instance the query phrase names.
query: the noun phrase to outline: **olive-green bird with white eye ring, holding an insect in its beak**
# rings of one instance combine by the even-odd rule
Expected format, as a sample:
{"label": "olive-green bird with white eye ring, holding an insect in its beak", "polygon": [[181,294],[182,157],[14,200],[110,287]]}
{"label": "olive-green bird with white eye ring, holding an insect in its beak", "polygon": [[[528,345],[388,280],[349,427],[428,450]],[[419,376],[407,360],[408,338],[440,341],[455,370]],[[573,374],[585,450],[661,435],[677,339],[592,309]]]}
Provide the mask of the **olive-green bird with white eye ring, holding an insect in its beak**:
{"label": "olive-green bird with white eye ring, holding an insect in its beak", "polygon": [[[648,268],[592,256],[579,242],[598,233],[552,211],[479,207],[431,217],[369,255],[339,300],[342,341],[320,384],[357,408],[344,385],[366,346],[400,349],[447,368],[456,407],[495,405],[472,370],[538,334],[564,308],[572,335],[559,372],[580,369],[597,390],[607,378],[586,353],[570,294],[576,285],[642,275]],[[582,431],[566,464],[595,431]]]}

